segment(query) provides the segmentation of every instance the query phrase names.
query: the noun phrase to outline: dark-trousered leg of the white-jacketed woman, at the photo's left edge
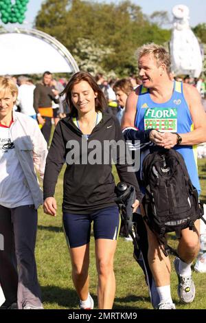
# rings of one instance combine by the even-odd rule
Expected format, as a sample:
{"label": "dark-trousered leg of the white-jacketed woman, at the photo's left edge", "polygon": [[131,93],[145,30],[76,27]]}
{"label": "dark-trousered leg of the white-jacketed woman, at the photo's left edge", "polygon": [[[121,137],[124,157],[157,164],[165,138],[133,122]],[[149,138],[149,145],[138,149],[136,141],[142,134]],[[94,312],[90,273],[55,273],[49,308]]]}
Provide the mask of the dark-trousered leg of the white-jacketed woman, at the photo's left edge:
{"label": "dark-trousered leg of the white-jacketed woman, at the photo's left edge", "polygon": [[14,246],[14,232],[9,208],[0,205],[0,234],[3,236],[3,250],[0,250],[0,282],[5,304],[10,306],[17,299],[18,272]]}

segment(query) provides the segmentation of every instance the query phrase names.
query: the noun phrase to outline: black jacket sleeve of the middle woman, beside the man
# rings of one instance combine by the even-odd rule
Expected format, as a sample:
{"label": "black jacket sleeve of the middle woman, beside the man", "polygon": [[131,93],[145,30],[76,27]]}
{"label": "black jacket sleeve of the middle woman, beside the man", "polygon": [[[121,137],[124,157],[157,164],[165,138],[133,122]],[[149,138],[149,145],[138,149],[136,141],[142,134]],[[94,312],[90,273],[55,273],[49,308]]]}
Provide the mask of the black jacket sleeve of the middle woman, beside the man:
{"label": "black jacket sleeve of the middle woman, beside the man", "polygon": [[[125,181],[126,183],[133,185],[136,190],[136,196],[139,201],[142,199],[141,191],[139,190],[139,184],[135,172],[132,171],[132,166],[128,163],[130,159],[130,153],[128,153],[128,148],[122,134],[121,127],[118,120],[115,120],[115,141],[121,142],[121,148],[117,149],[117,162],[116,168],[119,175],[120,181]],[[124,146],[124,148],[123,148]],[[122,149],[123,148],[123,149]]]}

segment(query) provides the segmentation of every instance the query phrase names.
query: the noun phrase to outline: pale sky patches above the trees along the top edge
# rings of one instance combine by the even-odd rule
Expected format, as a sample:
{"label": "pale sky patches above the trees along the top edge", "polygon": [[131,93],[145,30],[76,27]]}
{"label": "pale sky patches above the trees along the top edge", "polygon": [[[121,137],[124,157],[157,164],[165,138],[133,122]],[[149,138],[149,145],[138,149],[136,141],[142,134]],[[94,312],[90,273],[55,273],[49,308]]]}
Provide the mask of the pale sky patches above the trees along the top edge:
{"label": "pale sky patches above the trees along the top edge", "polygon": [[[13,1],[13,0],[12,0]],[[45,0],[30,0],[27,4],[26,19],[28,25],[32,26],[38,10],[41,9],[41,4]],[[170,20],[172,20],[172,8],[174,5],[187,5],[190,9],[190,25],[192,27],[198,23],[206,23],[206,1],[205,0],[131,0],[136,5],[142,8],[144,14],[152,14],[154,11],[168,11]],[[106,0],[98,2],[120,2],[119,0]],[[168,27],[170,27],[168,25]]]}

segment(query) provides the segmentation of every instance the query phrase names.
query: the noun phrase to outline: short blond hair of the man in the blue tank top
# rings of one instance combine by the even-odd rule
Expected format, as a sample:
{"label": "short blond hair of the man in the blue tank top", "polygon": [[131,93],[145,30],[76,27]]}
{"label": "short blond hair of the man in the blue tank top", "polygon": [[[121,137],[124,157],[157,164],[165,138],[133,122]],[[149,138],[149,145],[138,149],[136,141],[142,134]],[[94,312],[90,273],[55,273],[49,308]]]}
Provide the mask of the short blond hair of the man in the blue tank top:
{"label": "short blond hair of the man in the blue tank top", "polygon": [[171,58],[165,47],[150,43],[139,47],[137,50],[137,58],[141,58],[145,55],[153,55],[159,67],[161,64],[165,64],[168,74],[170,73]]}

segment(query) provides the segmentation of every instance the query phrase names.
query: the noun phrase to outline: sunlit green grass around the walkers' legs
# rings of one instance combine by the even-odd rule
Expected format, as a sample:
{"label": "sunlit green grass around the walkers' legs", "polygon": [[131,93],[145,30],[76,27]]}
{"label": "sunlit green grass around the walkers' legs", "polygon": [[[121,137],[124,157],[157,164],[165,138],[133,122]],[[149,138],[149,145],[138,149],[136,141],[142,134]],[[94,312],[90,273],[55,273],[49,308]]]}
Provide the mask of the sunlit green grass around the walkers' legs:
{"label": "sunlit green grass around the walkers' legs", "polygon": [[[206,203],[206,159],[198,161],[201,179],[201,199]],[[115,177],[116,174],[114,173]],[[62,172],[56,186],[58,214],[56,218],[43,214],[38,216],[36,261],[38,278],[43,293],[45,309],[78,309],[78,297],[71,280],[69,252],[62,232]],[[175,246],[174,236],[170,244]],[[94,239],[91,236],[90,293],[97,307],[97,274],[95,271]],[[177,277],[172,269],[172,298],[177,309],[206,309],[206,274],[193,272],[196,298],[192,304],[183,305],[176,294]],[[117,291],[113,309],[152,309],[144,274],[133,258],[133,243],[119,237],[115,254]]]}

